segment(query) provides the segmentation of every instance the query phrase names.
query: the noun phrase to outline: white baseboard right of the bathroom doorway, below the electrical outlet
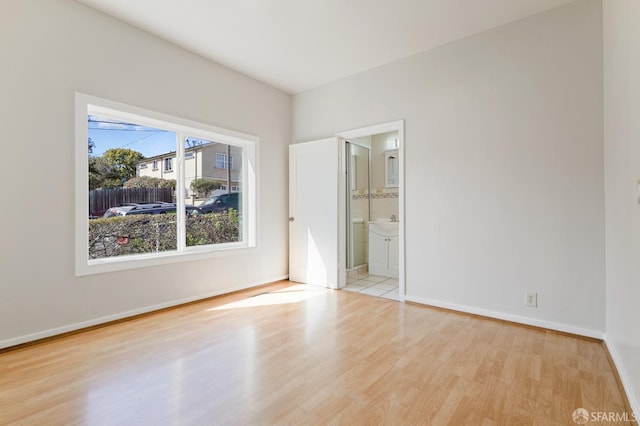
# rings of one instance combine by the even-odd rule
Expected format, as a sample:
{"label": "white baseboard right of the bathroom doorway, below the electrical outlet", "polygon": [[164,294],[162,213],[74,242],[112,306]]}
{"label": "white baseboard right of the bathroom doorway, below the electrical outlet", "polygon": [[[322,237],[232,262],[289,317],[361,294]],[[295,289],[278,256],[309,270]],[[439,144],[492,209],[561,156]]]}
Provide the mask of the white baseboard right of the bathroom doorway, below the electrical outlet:
{"label": "white baseboard right of the bathroom doorway, below the electrical outlet", "polygon": [[471,306],[458,305],[455,303],[442,302],[440,300],[426,299],[415,296],[405,296],[405,301],[419,303],[421,305],[435,306],[438,308],[451,309],[468,314],[480,315],[483,317],[496,318],[504,321],[511,321],[519,324],[531,325],[534,327],[547,328],[549,330],[561,331],[564,333],[576,334],[579,336],[592,337],[594,339],[604,340],[604,333],[598,330],[590,330],[588,328],[574,327],[572,325],[559,324],[552,321],[545,321],[537,318],[523,317],[520,315],[505,314],[503,312],[490,311],[488,309],[474,308]]}

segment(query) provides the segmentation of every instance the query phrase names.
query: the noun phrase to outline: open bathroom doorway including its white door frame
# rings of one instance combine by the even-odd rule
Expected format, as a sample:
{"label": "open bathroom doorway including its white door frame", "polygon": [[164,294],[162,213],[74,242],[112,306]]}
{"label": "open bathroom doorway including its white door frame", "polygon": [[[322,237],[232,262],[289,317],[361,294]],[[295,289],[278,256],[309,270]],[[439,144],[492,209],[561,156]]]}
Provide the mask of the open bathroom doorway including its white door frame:
{"label": "open bathroom doorway including its white door frame", "polygon": [[337,136],[339,287],[404,301],[404,121]]}

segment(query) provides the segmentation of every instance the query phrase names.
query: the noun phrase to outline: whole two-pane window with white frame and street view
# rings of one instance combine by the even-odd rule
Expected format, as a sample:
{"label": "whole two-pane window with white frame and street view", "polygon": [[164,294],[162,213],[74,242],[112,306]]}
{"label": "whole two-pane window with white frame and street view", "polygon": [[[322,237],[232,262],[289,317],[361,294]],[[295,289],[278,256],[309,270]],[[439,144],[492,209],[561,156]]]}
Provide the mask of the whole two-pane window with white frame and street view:
{"label": "whole two-pane window with white frame and street view", "polygon": [[[198,164],[185,161],[194,141]],[[76,275],[255,247],[257,144],[254,136],[76,94]],[[224,152],[237,165],[216,172],[219,160],[227,166]],[[144,160],[154,157],[149,170]],[[171,178],[157,172],[160,162]],[[209,179],[244,191],[196,208],[191,183]]]}

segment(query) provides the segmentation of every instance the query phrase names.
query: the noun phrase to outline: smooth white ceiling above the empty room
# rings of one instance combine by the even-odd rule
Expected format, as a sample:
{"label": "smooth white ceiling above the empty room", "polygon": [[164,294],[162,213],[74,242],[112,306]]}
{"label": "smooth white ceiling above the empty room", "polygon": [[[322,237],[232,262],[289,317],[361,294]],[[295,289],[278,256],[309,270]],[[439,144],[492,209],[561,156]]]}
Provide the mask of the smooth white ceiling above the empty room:
{"label": "smooth white ceiling above the empty room", "polygon": [[288,93],[574,0],[78,0]]}

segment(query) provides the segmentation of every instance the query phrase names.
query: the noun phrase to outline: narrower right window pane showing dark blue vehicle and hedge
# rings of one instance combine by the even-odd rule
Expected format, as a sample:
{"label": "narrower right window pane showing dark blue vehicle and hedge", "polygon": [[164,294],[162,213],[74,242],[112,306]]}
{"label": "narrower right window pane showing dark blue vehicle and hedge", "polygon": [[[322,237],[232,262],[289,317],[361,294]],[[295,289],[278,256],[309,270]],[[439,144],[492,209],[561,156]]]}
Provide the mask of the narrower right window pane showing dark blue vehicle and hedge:
{"label": "narrower right window pane showing dark blue vehicle and hedge", "polygon": [[[197,208],[187,215],[186,245],[241,241],[242,148],[192,137],[186,138],[184,148],[187,204]],[[230,156],[235,157],[233,169],[227,168]]]}

